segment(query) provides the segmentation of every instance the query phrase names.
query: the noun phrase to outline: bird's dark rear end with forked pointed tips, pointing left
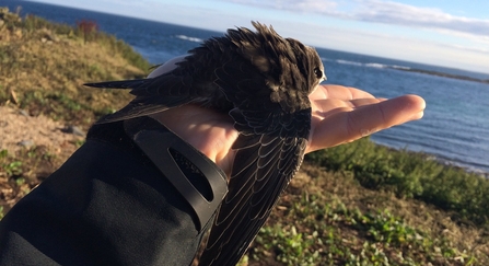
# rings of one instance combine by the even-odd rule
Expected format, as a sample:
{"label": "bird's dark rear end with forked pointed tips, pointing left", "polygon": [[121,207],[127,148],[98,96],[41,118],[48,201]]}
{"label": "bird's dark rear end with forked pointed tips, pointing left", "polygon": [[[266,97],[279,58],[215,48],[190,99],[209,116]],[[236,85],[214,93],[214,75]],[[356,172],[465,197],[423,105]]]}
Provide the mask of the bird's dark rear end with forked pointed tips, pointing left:
{"label": "bird's dark rear end with forked pointed tips, pointing left", "polygon": [[85,84],[94,88],[131,89],[130,93],[136,95],[127,106],[97,123],[129,119],[191,102],[205,102],[202,99],[212,96],[218,90],[212,82],[214,61],[208,58],[211,55],[209,49],[201,47],[177,62],[178,67],[172,71],[154,78]]}

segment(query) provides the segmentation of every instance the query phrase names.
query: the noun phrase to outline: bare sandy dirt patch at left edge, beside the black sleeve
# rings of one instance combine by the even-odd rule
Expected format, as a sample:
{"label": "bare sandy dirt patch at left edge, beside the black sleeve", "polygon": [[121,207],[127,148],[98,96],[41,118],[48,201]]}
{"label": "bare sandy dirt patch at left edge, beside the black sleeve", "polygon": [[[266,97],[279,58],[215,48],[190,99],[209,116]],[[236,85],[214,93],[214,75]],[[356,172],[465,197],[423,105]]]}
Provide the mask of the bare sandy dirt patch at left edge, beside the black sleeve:
{"label": "bare sandy dirt patch at left edge, beside the black sleeve", "polygon": [[9,157],[0,164],[0,217],[58,169],[84,140],[83,135],[78,127],[49,117],[0,106],[0,151],[7,150]]}

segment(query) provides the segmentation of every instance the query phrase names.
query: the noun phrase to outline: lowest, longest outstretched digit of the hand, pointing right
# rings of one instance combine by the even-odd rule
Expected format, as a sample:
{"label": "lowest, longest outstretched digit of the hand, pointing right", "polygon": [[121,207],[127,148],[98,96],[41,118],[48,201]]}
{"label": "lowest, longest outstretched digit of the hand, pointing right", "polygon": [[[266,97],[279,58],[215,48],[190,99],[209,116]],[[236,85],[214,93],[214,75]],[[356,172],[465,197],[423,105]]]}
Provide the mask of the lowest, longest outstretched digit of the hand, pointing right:
{"label": "lowest, longest outstretched digit of the hand, pointing right", "polygon": [[[379,130],[419,119],[426,107],[417,95],[362,105],[350,112],[335,113],[324,119],[313,116],[313,130],[306,152],[351,142]],[[347,107],[346,107],[347,108]]]}

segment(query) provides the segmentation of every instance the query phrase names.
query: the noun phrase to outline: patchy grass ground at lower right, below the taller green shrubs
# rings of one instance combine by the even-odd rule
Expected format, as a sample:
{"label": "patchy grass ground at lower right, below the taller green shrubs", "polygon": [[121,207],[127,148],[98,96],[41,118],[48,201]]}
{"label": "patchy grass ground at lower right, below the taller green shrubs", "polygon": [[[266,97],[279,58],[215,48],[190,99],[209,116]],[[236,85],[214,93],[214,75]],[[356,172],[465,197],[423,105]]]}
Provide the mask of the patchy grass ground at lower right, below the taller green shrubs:
{"label": "patchy grass ground at lower right, below the taller green shrubs", "polygon": [[[352,174],[306,163],[256,238],[248,262],[279,265],[487,265],[487,231]],[[439,223],[439,224],[436,224]],[[486,236],[485,236],[486,234]]]}

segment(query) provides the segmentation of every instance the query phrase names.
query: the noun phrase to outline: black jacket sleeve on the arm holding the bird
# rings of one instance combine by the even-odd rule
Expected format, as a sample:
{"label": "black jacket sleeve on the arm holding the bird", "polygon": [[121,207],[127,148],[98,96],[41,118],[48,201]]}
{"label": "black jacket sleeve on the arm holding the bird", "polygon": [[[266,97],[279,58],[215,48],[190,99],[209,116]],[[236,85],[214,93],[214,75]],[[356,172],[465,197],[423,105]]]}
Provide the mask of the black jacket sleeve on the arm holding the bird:
{"label": "black jacket sleeve on the arm holding the bird", "polygon": [[202,228],[123,123],[88,141],[0,223],[0,265],[189,265]]}

